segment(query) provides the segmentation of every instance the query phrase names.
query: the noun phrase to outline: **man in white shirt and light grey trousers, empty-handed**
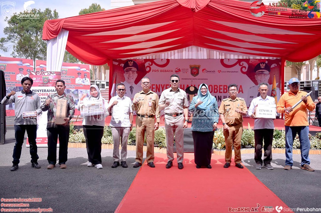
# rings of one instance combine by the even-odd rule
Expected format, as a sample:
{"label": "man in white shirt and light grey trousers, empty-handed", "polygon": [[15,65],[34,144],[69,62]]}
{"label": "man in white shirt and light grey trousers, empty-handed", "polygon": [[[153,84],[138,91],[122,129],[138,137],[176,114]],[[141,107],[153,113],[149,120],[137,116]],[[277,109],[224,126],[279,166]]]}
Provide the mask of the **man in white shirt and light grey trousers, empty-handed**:
{"label": "man in white shirt and light grey trousers, empty-handed", "polygon": [[111,112],[110,127],[114,141],[114,163],[111,168],[119,166],[119,142],[121,142],[120,165],[123,168],[127,168],[127,141],[129,133],[133,128],[132,101],[129,97],[125,96],[126,87],[124,84],[117,84],[116,92],[117,95],[110,98],[108,105],[108,111]]}

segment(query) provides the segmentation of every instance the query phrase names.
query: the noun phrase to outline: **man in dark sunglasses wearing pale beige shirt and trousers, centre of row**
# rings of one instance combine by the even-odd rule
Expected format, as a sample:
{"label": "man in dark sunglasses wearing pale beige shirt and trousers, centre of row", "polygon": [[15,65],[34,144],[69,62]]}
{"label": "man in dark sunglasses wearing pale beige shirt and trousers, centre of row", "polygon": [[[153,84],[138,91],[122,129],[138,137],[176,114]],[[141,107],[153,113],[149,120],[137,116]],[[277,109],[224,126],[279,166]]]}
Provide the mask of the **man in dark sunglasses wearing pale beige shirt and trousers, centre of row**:
{"label": "man in dark sunglasses wearing pale beige shirt and trousers, centre of row", "polygon": [[[174,74],[170,76],[171,87],[165,89],[160,95],[160,110],[165,112],[165,131],[166,131],[166,150],[168,162],[166,168],[173,166],[174,153],[174,135],[177,153],[178,168],[183,169],[184,156],[184,129],[188,122],[188,101],[184,90],[179,89],[179,76]],[[183,116],[184,114],[184,116]]]}

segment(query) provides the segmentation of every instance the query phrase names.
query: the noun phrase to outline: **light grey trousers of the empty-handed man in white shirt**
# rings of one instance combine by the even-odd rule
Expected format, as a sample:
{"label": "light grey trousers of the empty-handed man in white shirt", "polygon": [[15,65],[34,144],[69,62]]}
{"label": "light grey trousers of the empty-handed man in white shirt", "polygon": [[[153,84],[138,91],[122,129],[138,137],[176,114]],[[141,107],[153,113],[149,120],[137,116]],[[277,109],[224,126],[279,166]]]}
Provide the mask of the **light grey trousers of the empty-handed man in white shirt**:
{"label": "light grey trousers of the empty-handed man in white shirt", "polygon": [[128,142],[129,132],[130,132],[130,127],[111,127],[111,134],[113,135],[113,141],[114,141],[114,151],[113,151],[114,161],[119,161],[119,143],[121,143],[121,152],[120,152],[121,161],[126,161],[127,142]]}

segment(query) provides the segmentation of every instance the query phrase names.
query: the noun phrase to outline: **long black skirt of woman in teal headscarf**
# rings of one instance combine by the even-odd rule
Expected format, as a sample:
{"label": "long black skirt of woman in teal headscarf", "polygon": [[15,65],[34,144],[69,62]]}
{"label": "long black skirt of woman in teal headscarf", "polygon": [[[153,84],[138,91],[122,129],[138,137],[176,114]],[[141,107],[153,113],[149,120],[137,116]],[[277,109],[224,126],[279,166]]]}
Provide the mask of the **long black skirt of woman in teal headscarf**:
{"label": "long black skirt of woman in teal headscarf", "polygon": [[214,131],[192,131],[194,141],[194,161],[198,166],[211,164]]}

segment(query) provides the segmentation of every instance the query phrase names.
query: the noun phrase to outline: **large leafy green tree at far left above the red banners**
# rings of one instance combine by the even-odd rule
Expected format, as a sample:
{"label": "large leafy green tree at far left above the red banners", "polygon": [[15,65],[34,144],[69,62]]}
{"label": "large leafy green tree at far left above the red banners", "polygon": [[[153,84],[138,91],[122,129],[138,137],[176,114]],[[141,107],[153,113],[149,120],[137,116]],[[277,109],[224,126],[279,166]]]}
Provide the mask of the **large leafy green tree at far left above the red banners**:
{"label": "large leafy green tree at far left above the red banners", "polygon": [[49,8],[43,12],[32,9],[6,17],[9,26],[4,28],[6,37],[0,38],[0,49],[8,52],[12,48],[13,57],[46,60],[47,44],[42,40],[43,25],[48,19],[58,18],[58,12],[52,12]]}

